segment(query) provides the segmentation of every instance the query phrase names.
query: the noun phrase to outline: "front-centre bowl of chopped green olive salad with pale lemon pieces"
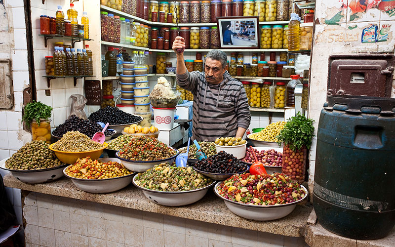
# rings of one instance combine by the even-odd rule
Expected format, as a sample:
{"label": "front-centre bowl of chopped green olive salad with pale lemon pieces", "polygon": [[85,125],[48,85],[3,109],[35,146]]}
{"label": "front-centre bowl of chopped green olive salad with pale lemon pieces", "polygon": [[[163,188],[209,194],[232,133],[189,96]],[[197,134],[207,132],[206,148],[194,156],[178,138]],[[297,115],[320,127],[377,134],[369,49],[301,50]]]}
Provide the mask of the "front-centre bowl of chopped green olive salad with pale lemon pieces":
{"label": "front-centre bowl of chopped green olive salad with pale lemon pieces", "polygon": [[192,167],[161,163],[133,177],[133,184],[152,202],[164,206],[184,206],[199,201],[215,181]]}

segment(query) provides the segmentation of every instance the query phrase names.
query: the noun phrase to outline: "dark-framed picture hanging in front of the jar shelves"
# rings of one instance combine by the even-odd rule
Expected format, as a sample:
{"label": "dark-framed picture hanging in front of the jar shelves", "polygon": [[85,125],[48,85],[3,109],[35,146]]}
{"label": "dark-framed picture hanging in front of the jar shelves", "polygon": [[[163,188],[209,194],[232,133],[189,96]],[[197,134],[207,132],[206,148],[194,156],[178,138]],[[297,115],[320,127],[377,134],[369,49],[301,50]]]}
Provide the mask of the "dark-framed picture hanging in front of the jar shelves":
{"label": "dark-framed picture hanging in front of the jar shelves", "polygon": [[258,16],[217,17],[221,48],[259,48]]}

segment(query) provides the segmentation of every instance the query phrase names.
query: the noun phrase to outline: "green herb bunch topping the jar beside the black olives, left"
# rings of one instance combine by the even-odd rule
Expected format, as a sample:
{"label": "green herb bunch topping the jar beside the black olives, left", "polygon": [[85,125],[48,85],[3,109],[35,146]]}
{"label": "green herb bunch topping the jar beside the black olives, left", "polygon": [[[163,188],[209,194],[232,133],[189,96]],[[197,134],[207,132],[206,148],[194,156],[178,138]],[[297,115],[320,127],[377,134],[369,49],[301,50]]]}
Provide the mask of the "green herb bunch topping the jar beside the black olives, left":
{"label": "green herb bunch topping the jar beside the black olives, left", "polygon": [[40,119],[49,119],[52,115],[52,107],[42,104],[40,101],[30,102],[24,108],[22,121],[30,127],[30,123],[36,120],[37,124],[40,126]]}

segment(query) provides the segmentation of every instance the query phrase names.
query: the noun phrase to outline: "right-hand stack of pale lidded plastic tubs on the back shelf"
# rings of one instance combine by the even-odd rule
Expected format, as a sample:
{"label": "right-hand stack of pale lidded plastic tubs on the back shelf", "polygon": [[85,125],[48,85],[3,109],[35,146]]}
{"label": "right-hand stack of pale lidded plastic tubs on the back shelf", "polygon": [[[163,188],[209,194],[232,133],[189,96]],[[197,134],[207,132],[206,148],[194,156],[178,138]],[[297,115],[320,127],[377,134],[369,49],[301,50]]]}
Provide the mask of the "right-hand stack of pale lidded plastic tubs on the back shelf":
{"label": "right-hand stack of pale lidded plastic tubs on the back shelf", "polygon": [[148,82],[147,66],[140,65],[134,68],[135,87],[134,90],[134,105],[136,115],[143,117],[140,125],[143,127],[151,126],[151,111],[150,111],[150,86]]}

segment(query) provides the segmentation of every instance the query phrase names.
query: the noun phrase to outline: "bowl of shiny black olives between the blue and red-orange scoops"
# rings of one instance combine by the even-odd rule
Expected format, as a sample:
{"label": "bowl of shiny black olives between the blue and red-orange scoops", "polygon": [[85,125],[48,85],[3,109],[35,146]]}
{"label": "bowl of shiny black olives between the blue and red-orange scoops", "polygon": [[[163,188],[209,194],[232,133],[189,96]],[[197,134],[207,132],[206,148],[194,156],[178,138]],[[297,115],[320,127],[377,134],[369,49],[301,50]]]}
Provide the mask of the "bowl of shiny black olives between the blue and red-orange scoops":
{"label": "bowl of shiny black olives between the blue and red-orange scoops", "polygon": [[214,180],[226,180],[234,174],[248,172],[249,166],[237,160],[232,154],[220,151],[218,154],[194,164],[193,168]]}

